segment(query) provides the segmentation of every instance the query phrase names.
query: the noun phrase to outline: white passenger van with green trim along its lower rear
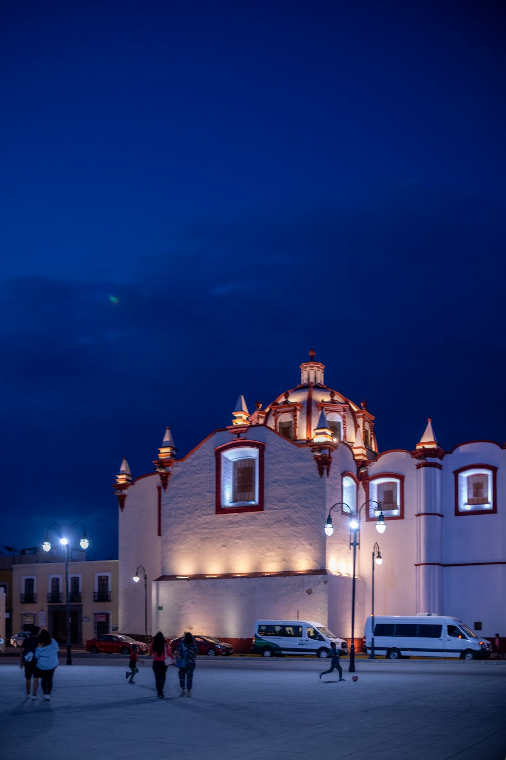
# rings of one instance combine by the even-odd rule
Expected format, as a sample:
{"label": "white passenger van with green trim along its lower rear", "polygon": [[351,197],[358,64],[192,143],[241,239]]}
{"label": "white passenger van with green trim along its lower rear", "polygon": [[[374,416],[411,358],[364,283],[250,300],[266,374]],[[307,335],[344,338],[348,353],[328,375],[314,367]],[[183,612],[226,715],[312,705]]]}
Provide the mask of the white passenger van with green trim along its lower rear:
{"label": "white passenger van with green trim along its lower rear", "polygon": [[282,654],[330,655],[335,641],[338,651],[347,654],[347,644],[321,622],[314,620],[256,620],[252,651],[263,657]]}

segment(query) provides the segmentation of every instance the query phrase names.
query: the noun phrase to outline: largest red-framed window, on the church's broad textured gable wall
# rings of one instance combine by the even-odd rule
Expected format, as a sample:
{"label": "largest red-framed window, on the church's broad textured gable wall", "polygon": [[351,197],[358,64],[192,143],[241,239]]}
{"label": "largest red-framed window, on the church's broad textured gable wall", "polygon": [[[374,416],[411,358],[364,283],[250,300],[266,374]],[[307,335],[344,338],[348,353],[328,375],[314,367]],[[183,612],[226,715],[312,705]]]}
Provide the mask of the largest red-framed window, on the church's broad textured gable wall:
{"label": "largest red-framed window, on the church's broad textured gable wall", "polygon": [[215,449],[215,513],[263,510],[263,450],[257,441],[234,441]]}

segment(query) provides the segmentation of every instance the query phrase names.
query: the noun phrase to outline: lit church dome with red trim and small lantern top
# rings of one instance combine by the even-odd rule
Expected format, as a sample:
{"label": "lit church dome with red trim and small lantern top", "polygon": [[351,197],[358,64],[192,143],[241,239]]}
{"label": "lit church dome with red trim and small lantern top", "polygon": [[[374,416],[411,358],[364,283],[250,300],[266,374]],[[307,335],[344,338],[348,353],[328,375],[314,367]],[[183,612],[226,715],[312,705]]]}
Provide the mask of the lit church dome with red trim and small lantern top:
{"label": "lit church dome with red trim and small lantern top", "polygon": [[[350,446],[365,447],[369,452],[378,451],[374,434],[374,417],[367,410],[364,400],[360,407],[338,391],[325,385],[325,365],[310,360],[300,365],[300,383],[280,394],[266,407],[264,424],[277,430],[296,443],[311,443],[315,430],[322,419],[332,430],[335,443],[347,442]],[[324,414],[322,418],[322,413]]]}

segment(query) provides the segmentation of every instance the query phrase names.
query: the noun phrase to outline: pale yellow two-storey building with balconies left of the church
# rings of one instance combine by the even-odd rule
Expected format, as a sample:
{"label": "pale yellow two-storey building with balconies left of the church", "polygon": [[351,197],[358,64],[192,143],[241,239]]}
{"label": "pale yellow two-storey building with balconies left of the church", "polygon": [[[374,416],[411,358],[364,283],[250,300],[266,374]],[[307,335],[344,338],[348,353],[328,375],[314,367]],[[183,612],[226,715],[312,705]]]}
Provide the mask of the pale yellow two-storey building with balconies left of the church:
{"label": "pale yellow two-storey building with balconies left of the church", "polygon": [[[71,644],[118,630],[118,560],[69,562]],[[12,632],[36,624],[56,641],[67,640],[65,563],[12,568]]]}

